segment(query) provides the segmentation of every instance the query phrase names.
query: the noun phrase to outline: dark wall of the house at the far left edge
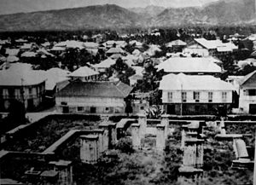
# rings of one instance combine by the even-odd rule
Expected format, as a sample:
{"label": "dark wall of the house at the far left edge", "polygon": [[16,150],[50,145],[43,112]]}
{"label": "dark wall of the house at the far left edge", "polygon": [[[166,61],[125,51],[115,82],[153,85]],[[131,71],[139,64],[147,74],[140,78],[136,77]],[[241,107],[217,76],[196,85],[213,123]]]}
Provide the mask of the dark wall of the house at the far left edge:
{"label": "dark wall of the house at the far left edge", "polygon": [[32,110],[33,108],[38,107],[43,101],[44,93],[45,82],[30,86],[2,86],[0,87],[0,109],[7,111],[11,101],[17,100],[24,102],[26,109]]}

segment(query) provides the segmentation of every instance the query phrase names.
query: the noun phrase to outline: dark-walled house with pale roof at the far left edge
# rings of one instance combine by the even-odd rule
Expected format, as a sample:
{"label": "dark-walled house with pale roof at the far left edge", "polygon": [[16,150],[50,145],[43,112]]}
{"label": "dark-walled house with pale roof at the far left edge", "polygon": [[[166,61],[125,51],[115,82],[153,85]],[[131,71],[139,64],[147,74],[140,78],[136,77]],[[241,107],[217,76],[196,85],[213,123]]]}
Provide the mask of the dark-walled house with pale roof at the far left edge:
{"label": "dark-walled house with pale roof at the far left edge", "polygon": [[10,67],[0,72],[0,109],[8,111],[15,100],[24,103],[26,110],[33,110],[43,102],[44,75],[26,70],[26,67]]}

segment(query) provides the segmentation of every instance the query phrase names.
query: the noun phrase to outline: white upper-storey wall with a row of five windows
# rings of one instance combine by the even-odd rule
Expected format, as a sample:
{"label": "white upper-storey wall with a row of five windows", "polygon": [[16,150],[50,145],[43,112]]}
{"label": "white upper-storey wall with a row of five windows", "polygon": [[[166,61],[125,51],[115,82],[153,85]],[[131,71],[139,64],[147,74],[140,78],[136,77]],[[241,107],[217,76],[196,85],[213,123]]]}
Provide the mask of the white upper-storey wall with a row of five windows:
{"label": "white upper-storey wall with a row of five windows", "polygon": [[[168,92],[172,92],[172,101],[168,100]],[[186,90],[175,90],[175,91],[167,91],[163,90],[162,93],[162,102],[163,103],[181,103],[182,101],[182,92],[187,93],[187,100],[184,103],[232,103],[232,91],[217,91],[217,90],[196,90],[196,91],[186,91]],[[195,102],[194,100],[194,92],[200,93],[199,102]],[[208,92],[212,92],[212,102],[208,100]],[[227,92],[226,101],[222,99],[222,92]]]}

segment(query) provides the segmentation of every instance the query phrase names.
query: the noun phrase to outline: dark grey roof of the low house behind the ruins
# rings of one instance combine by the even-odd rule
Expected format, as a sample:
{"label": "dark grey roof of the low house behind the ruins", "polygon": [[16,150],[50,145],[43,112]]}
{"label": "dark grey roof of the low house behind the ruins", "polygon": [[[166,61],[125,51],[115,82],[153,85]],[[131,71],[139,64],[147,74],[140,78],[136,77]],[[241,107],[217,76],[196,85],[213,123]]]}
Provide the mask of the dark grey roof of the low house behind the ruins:
{"label": "dark grey roof of the low house behind the ruins", "polygon": [[122,82],[73,82],[59,91],[56,96],[88,96],[125,98],[132,88]]}

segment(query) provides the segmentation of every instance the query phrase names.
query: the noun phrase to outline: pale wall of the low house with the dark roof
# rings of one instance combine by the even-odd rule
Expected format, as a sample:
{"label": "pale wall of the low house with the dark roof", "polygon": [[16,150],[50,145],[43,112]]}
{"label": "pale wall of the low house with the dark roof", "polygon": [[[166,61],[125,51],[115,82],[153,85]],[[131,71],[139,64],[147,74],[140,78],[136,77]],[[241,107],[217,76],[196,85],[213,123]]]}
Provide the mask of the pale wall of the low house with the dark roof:
{"label": "pale wall of the low house with the dark roof", "polygon": [[58,112],[63,107],[68,107],[68,113],[92,113],[91,107],[95,107],[95,113],[125,113],[125,101],[121,98],[100,97],[56,97]]}

